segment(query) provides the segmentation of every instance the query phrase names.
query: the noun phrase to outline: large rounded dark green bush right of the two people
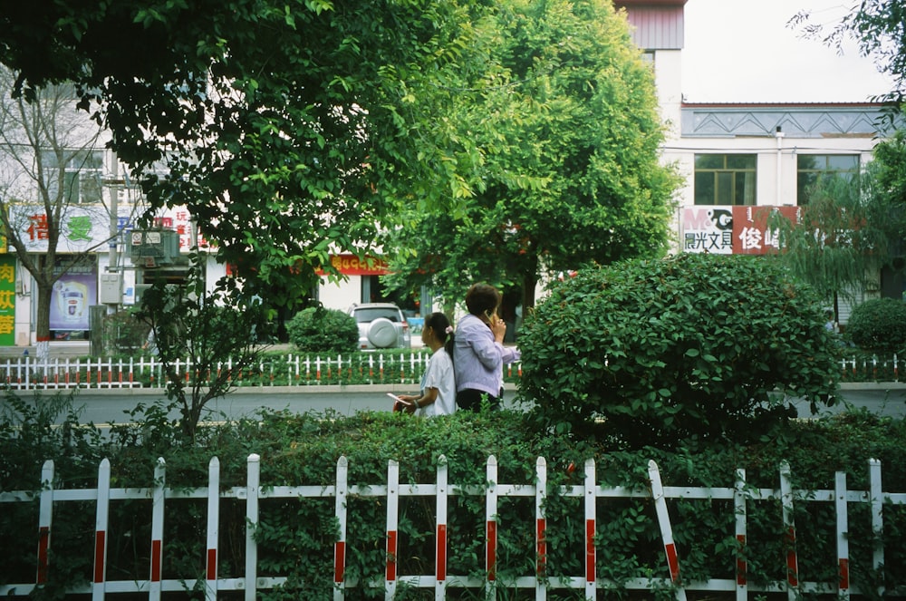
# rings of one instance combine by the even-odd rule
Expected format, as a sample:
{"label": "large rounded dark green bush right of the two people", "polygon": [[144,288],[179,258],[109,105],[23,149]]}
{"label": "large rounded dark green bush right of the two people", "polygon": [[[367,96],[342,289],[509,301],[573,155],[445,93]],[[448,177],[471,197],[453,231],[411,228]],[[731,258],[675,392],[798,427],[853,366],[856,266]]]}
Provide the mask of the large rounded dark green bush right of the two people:
{"label": "large rounded dark green bush right of the two people", "polygon": [[757,435],[791,414],[785,394],[833,402],[839,373],[816,297],[763,257],[583,270],[535,307],[520,347],[542,427],[634,447]]}

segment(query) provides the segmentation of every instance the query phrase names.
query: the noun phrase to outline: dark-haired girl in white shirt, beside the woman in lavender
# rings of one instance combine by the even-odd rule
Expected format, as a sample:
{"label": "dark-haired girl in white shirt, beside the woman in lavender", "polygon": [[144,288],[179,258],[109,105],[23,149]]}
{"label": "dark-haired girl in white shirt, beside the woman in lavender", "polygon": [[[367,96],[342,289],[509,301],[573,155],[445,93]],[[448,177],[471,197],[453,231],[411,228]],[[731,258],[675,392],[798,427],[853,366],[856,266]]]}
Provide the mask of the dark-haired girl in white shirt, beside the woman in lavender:
{"label": "dark-haired girl in white shirt, beside the woman in lavender", "polygon": [[421,342],[431,349],[431,358],[421,376],[421,393],[400,394],[400,399],[412,404],[406,411],[433,417],[456,411],[456,382],[453,379],[453,327],[447,315],[432,313],[425,318]]}

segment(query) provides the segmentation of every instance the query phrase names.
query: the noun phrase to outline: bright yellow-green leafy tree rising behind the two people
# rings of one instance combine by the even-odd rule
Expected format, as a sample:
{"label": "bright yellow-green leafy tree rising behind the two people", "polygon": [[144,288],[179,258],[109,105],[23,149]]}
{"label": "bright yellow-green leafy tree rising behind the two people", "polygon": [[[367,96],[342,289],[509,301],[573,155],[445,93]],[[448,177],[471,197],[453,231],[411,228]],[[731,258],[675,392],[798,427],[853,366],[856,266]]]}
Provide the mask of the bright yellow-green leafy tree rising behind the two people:
{"label": "bright yellow-green leafy tree rising behind the two people", "polygon": [[487,67],[450,109],[482,150],[475,194],[459,212],[413,205],[390,232],[391,281],[459,298],[488,280],[529,307],[545,275],[664,251],[678,179],[624,16],[602,0],[508,0],[486,24]]}

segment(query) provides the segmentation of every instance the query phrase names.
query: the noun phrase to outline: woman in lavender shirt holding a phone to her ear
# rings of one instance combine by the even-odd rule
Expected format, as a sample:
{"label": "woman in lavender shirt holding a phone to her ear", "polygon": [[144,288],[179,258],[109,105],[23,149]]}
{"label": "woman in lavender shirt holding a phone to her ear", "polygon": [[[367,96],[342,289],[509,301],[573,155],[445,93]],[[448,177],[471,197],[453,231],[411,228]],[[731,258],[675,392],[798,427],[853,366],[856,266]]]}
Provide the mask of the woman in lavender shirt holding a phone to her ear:
{"label": "woman in lavender shirt holding a phone to her ear", "polygon": [[453,345],[460,409],[478,411],[483,401],[499,407],[504,364],[519,360],[519,351],[503,344],[506,323],[497,315],[500,300],[500,293],[488,284],[475,284],[466,293],[468,315],[459,320]]}

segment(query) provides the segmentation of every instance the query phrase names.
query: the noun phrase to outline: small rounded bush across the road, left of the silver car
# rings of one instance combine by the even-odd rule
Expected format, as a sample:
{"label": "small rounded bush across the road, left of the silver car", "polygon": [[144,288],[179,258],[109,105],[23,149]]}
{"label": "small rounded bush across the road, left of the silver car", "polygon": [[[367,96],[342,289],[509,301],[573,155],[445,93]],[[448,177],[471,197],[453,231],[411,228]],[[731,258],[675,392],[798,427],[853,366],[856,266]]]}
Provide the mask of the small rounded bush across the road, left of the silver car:
{"label": "small rounded bush across the road, left of the silver car", "polygon": [[359,325],[352,315],[323,306],[309,307],[286,324],[289,341],[304,353],[353,353],[359,347]]}

